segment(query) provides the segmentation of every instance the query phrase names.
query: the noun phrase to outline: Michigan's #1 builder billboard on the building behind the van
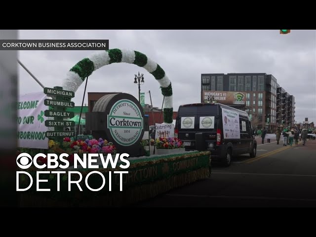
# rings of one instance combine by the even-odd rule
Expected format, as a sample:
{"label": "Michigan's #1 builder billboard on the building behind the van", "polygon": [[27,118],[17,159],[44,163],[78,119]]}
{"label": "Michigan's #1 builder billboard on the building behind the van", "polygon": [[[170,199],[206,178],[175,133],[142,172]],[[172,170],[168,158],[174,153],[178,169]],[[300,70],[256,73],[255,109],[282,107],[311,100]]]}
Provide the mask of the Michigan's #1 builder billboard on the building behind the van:
{"label": "Michigan's #1 builder billboard on the building behind the van", "polygon": [[215,101],[224,105],[245,105],[246,94],[240,91],[211,91],[203,90],[201,103]]}

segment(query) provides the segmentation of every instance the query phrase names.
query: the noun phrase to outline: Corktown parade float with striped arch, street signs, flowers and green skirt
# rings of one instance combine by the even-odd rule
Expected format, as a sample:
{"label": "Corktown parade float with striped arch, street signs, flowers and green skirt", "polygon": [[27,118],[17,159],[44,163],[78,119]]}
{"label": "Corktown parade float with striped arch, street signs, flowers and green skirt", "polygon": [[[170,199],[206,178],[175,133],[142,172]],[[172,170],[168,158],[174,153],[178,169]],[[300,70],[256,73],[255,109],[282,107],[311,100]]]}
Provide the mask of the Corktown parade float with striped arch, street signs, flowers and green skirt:
{"label": "Corktown parade float with striped arch, street signs, flowers and green skirt", "polygon": [[[145,54],[133,50],[110,49],[82,59],[68,72],[62,87],[44,89],[44,94],[52,98],[43,97],[43,105],[48,106],[48,109],[42,106],[37,111],[37,122],[40,122],[42,127],[44,117],[47,117],[44,121],[46,131],[41,131],[41,144],[44,145],[35,148],[24,146],[19,149],[18,154],[25,152],[32,156],[38,153],[55,153],[57,155],[67,153],[69,154],[67,159],[72,165],[75,154],[79,157],[91,153],[114,157],[118,153],[127,153],[130,166],[127,169],[128,174],[122,176],[123,190],[119,190],[119,175],[111,176],[112,171],[121,170],[118,165],[115,168],[108,166],[97,169],[98,172],[104,174],[106,180],[109,180],[108,185],[112,189],[111,192],[108,188],[98,192],[91,192],[83,188],[83,192],[81,192],[78,188],[76,189],[76,185],[69,192],[67,191],[67,180],[70,176],[64,174],[58,179],[57,175],[47,173],[46,176],[42,175],[42,179],[47,179],[49,182],[43,182],[40,185],[42,188],[49,188],[50,192],[36,192],[36,185],[33,185],[34,187],[21,193],[22,206],[130,205],[210,176],[209,152],[185,152],[182,141],[174,135],[162,136],[156,141],[144,141],[144,112],[139,101],[130,94],[105,95],[96,102],[92,112],[86,113],[85,126],[87,130],[91,131],[92,139],[76,139],[74,131],[64,131],[64,127],[74,126],[74,122],[65,120],[74,117],[73,113],[66,112],[66,108],[74,106],[71,99],[74,98],[79,86],[93,71],[112,63],[135,64],[151,73],[159,82],[161,93],[164,96],[164,123],[172,123],[171,81],[162,68]],[[40,104],[40,102],[38,103]],[[35,136],[30,131],[21,132],[22,135],[18,135],[25,140]],[[31,141],[32,139],[29,139],[28,144],[31,144]],[[45,143],[47,147],[45,147]],[[146,147],[153,143],[157,147],[157,155],[150,155],[147,152]],[[39,158],[38,162],[45,164],[47,159]],[[28,172],[34,176],[33,180],[36,180],[36,170],[37,168],[34,166],[28,169]],[[88,170],[84,168],[77,170],[82,173],[80,183],[84,184]],[[60,191],[56,190],[58,181]],[[102,185],[101,181],[99,176],[91,175],[88,183],[96,189]],[[28,187],[29,184],[30,180],[27,177],[23,175],[19,177],[19,185],[22,188]]]}

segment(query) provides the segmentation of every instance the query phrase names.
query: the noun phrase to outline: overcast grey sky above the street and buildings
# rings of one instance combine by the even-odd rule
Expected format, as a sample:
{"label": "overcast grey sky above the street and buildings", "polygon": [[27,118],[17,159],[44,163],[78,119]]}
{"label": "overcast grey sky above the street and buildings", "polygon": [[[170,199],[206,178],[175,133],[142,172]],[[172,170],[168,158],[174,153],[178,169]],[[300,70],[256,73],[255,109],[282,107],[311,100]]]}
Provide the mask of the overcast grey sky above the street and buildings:
{"label": "overcast grey sky above the street and buildings", "polygon": [[[203,73],[267,73],[295,96],[295,120],[316,122],[316,31],[292,30],[21,30],[24,40],[109,40],[110,48],[132,49],[157,62],[172,82],[173,108],[200,102]],[[46,87],[61,85],[66,73],[94,51],[20,51],[21,62]],[[87,92],[125,92],[138,98],[134,75],[144,74],[142,92],[154,107],[163,96],[154,76],[136,65],[104,66],[88,79]],[[19,66],[20,93],[41,91]],[[81,105],[84,83],[76,92]],[[85,102],[87,103],[87,94]],[[149,93],[145,103],[150,104]]]}

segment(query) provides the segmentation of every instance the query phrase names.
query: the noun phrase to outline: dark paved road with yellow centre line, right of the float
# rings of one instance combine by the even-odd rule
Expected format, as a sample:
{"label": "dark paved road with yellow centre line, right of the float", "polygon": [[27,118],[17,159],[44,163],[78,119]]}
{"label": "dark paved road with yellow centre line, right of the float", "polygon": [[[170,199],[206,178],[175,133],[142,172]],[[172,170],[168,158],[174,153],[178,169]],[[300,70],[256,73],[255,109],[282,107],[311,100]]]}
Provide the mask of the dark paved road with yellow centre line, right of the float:
{"label": "dark paved road with yellow centre line, right of the float", "polygon": [[316,140],[306,146],[258,143],[256,158],[214,164],[209,179],[172,190],[137,206],[316,207]]}

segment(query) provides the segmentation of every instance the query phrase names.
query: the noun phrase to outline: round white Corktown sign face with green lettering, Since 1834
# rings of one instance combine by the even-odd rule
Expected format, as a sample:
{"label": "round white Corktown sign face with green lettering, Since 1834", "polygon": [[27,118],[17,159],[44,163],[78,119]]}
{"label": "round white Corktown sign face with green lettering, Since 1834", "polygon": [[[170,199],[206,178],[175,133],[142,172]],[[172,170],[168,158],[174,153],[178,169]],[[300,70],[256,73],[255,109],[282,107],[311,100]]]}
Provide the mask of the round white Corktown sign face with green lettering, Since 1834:
{"label": "round white Corktown sign face with green lettering, Since 1834", "polygon": [[140,108],[130,100],[115,103],[108,115],[108,128],[113,139],[122,146],[131,146],[138,141],[143,129]]}

